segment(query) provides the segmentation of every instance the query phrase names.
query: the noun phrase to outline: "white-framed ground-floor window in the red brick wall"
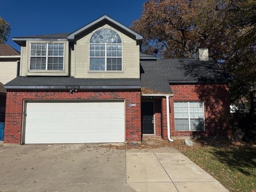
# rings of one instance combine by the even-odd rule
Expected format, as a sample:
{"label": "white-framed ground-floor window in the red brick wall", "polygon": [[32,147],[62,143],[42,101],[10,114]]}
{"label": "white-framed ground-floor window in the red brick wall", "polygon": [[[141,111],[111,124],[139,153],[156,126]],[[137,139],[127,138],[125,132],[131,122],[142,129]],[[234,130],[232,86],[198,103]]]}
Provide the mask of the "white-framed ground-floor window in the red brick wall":
{"label": "white-framed ground-floor window in the red brick wall", "polygon": [[174,102],[176,131],[204,130],[204,103],[201,101]]}

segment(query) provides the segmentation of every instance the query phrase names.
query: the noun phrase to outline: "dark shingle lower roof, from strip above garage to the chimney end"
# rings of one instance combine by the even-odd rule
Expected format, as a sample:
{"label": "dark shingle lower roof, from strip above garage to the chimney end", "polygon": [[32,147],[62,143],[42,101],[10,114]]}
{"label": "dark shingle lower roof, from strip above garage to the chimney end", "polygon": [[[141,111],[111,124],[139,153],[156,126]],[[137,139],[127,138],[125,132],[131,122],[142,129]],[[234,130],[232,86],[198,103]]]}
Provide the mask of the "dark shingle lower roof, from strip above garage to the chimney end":
{"label": "dark shingle lower roof, from strip above garage to the chimney end", "polygon": [[[228,83],[229,76],[213,60],[174,58],[140,61],[140,79],[74,78],[62,76],[18,76],[6,86],[141,86],[156,92],[172,93],[170,84]],[[10,88],[10,87],[9,87]]]}

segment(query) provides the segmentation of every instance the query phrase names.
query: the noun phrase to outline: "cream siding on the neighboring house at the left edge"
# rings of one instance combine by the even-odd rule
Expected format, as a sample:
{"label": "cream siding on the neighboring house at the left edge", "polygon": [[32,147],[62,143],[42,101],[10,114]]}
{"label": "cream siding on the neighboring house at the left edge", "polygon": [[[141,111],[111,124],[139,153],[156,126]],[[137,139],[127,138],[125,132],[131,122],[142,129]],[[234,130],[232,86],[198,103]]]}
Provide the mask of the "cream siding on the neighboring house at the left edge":
{"label": "cream siding on the neighboring house at the left edge", "polygon": [[[14,59],[15,60],[15,59]],[[20,60],[20,58],[17,58]],[[0,82],[6,84],[17,76],[17,61],[0,59]]]}

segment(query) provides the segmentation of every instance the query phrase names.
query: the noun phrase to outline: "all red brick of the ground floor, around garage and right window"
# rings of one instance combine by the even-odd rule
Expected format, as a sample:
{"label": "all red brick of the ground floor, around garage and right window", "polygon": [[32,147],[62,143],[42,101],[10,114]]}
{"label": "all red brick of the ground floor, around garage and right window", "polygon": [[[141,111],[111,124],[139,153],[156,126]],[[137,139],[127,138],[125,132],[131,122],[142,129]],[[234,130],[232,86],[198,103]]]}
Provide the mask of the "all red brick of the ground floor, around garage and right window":
{"label": "all red brick of the ground floor, around garage and right window", "polygon": [[[170,134],[172,138],[189,136],[192,138],[226,136],[229,94],[226,84],[184,84],[170,85]],[[126,141],[140,141],[141,134],[141,92],[140,90],[95,90],[70,94],[67,90],[10,90],[6,99],[6,120],[4,143],[20,143],[22,129],[23,100],[80,100],[80,99],[124,99]],[[205,131],[175,131],[174,101],[203,101]],[[136,104],[130,107],[129,104]],[[166,98],[154,100],[155,135],[167,135]]]}

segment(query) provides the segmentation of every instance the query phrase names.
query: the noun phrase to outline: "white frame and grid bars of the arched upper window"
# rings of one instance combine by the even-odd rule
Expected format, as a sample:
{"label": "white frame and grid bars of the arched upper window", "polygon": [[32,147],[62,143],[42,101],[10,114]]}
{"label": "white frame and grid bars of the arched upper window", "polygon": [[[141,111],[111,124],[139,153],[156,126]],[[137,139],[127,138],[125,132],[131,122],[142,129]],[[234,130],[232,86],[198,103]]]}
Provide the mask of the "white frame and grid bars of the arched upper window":
{"label": "white frame and grid bars of the arched upper window", "polygon": [[[109,34],[109,33],[107,33],[107,30],[110,30],[110,31],[114,32],[114,35],[111,34],[112,38],[115,38],[117,40],[117,38],[115,37],[115,36],[117,36],[119,38],[120,42],[118,42],[118,43],[104,42],[103,39],[112,40],[112,38],[109,39],[109,38],[105,37],[103,39],[102,38],[100,39],[99,36],[102,33],[100,33],[99,35],[96,34],[99,30],[105,30],[105,34]],[[116,31],[114,31],[112,29],[109,29],[109,28],[103,28],[103,29],[99,29],[99,30],[97,30],[96,32],[94,32],[92,34],[92,36],[90,37],[90,41],[89,41],[89,71],[90,72],[122,72],[123,71],[123,58],[122,58],[122,56],[123,56],[123,47],[122,47],[122,39],[121,39],[120,35]],[[95,42],[96,38],[94,39],[94,42],[91,42],[92,37],[94,36],[94,34],[97,36],[96,38],[100,39],[100,42],[96,43]],[[91,49],[91,47],[93,45],[94,46],[96,46],[96,45],[100,46],[100,51],[97,50],[97,52],[101,52],[100,56],[96,56],[95,47],[94,47],[93,50]],[[102,45],[104,45],[104,46],[102,47]],[[112,50],[112,48],[113,48],[112,45],[113,46],[116,45],[116,50]],[[111,46],[111,50],[109,50],[110,46]],[[118,50],[118,48],[119,48],[119,50]],[[102,49],[104,49],[104,50],[102,50]],[[94,52],[94,54],[91,54],[92,52]],[[102,52],[104,52],[104,56],[101,56]],[[111,52],[111,56],[109,56],[110,52]],[[113,52],[116,52],[115,56],[112,56]],[[119,56],[118,56],[118,54],[119,54]],[[91,58],[101,58],[101,59],[104,58],[104,64],[96,64],[96,59],[94,60],[94,63],[93,62],[91,63]],[[111,63],[109,63],[110,59],[111,59]],[[102,60],[100,60],[100,61],[102,61]],[[113,63],[113,61],[114,61],[114,63]],[[116,61],[116,64],[115,64],[115,61]],[[94,65],[94,68],[93,68],[93,65]],[[104,65],[104,70],[96,69],[96,65],[100,65],[100,67]],[[115,66],[115,68],[114,68],[114,66]],[[110,67],[111,67],[111,69],[110,69]]]}

